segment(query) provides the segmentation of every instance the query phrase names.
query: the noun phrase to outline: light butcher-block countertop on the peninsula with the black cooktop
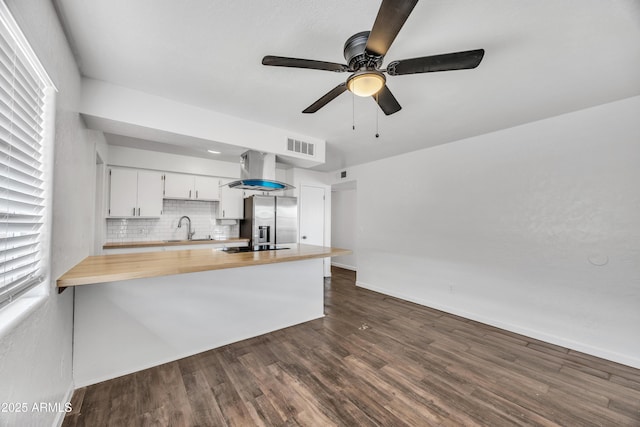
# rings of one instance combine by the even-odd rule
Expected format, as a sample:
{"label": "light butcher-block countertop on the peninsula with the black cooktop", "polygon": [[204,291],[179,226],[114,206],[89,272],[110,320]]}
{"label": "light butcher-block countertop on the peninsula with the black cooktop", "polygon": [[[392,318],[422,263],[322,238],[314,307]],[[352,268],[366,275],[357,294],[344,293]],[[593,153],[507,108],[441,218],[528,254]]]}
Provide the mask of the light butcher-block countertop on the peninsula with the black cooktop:
{"label": "light butcher-block countertop on the peninsula with the black cooktop", "polygon": [[227,253],[218,249],[188,249],[89,256],[63,274],[58,279],[57,285],[58,288],[66,288],[118,280],[334,257],[350,253],[351,251],[347,249],[295,245],[290,249],[260,252]]}

